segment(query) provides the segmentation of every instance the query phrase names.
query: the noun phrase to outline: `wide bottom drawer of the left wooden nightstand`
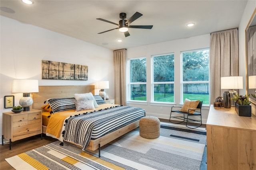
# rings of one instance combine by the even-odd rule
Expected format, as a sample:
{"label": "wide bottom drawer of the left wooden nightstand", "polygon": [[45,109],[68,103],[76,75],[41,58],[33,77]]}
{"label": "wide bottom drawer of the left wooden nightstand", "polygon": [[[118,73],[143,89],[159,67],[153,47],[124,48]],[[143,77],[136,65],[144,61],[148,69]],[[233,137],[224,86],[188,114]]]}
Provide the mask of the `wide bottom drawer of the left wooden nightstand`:
{"label": "wide bottom drawer of the left wooden nightstand", "polygon": [[15,127],[15,128],[13,128],[13,133],[12,133],[13,141],[39,134],[39,133],[41,133],[41,129],[42,129],[41,122],[34,123],[32,125]]}

